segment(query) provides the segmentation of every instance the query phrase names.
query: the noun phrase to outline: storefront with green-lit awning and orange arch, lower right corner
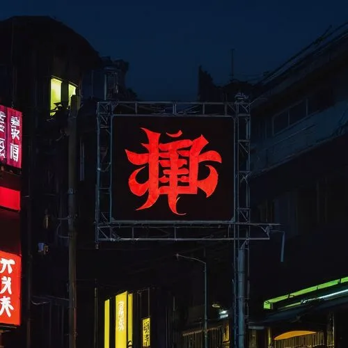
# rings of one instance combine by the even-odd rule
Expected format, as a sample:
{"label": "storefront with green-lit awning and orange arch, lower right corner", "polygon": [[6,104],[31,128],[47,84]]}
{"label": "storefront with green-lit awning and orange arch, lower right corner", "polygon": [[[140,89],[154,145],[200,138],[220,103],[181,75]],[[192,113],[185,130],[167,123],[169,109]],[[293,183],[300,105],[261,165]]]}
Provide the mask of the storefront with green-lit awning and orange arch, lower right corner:
{"label": "storefront with green-lit awning and orange arch, lower right corner", "polygon": [[348,277],[264,301],[253,322],[267,333],[267,348],[345,347]]}

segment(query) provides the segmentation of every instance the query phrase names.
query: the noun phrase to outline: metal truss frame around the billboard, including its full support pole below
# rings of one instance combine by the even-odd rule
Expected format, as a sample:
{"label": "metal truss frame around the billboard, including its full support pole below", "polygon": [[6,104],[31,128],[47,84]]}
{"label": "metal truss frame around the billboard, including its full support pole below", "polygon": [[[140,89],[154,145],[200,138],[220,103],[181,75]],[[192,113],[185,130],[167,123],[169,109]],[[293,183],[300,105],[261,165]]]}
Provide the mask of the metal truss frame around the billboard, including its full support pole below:
{"label": "metal truss frame around the billboard, including its full support pole below", "polygon": [[[113,117],[116,107],[122,116],[153,114],[159,116],[227,116],[235,122],[234,147],[234,218],[231,221],[116,221],[112,217],[112,155]],[[214,111],[220,109],[216,114]],[[218,242],[232,241],[233,294],[230,317],[232,346],[246,347],[248,322],[249,242],[269,239],[275,223],[251,222],[249,179],[251,177],[251,102],[239,93],[235,102],[100,102],[97,106],[97,186],[95,205],[95,242]],[[125,113],[126,110],[126,113]],[[102,210],[100,198],[108,200],[108,209]],[[199,230],[193,237],[180,230]],[[157,230],[164,235],[139,234]],[[123,232],[122,232],[123,231]],[[170,231],[170,232],[168,232]],[[198,232],[198,231],[197,231]],[[254,233],[256,232],[256,233]]]}

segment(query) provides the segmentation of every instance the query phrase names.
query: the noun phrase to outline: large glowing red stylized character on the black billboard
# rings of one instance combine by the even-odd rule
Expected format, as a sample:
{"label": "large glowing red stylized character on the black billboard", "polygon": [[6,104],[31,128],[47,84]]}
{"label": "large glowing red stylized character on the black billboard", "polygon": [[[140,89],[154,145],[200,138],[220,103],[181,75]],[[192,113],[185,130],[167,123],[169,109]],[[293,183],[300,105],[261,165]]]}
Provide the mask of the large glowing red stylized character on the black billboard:
{"label": "large glowing red stylized character on the black billboard", "polygon": [[[194,140],[182,139],[169,143],[160,143],[160,133],[151,132],[141,128],[148,136],[148,143],[141,144],[148,150],[147,153],[135,153],[125,150],[129,162],[141,168],[136,169],[129,177],[130,191],[136,196],[143,196],[148,191],[148,200],[136,210],[148,209],[154,205],[160,195],[168,196],[168,205],[171,212],[177,215],[185,215],[177,212],[177,201],[182,194],[196,195],[198,189],[205,192],[209,197],[214,193],[218,184],[219,174],[213,166],[205,164],[209,169],[209,175],[203,180],[198,180],[199,164],[204,161],[221,163],[219,152],[202,152],[209,143],[203,135]],[[168,134],[171,138],[182,135]],[[140,183],[136,176],[148,165],[148,181]],[[163,169],[160,175],[159,168]]]}

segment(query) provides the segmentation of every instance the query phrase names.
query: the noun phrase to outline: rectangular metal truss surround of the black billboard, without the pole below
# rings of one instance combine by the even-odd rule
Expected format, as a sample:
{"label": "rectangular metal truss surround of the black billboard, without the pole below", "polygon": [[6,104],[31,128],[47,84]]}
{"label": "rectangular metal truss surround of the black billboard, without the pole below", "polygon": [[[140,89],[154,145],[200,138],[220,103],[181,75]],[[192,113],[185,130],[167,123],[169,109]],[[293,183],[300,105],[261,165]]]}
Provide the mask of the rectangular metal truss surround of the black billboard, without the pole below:
{"label": "rectangular metal truss surround of the black billboard, without the pole below", "polygon": [[[117,116],[207,116],[232,117],[235,122],[235,216],[230,221],[118,221],[112,216],[113,118]],[[236,241],[269,239],[274,224],[251,223],[250,193],[250,103],[244,95],[235,102],[99,102],[97,105],[97,184],[95,242],[121,241]],[[101,207],[101,197],[107,207]],[[183,228],[199,228],[198,237],[182,237]],[[141,230],[156,230],[151,236]],[[214,232],[213,232],[214,230]],[[216,230],[218,232],[216,232]],[[255,230],[255,236],[251,235]],[[123,231],[123,232],[122,232]]]}

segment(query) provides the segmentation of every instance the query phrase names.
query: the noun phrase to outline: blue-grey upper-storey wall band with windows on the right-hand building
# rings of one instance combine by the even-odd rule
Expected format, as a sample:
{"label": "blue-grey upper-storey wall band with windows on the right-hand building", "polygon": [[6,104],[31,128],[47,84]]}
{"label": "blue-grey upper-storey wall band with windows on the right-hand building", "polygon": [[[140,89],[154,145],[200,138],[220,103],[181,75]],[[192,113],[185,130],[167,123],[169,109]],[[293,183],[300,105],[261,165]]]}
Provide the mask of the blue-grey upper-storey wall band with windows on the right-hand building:
{"label": "blue-grey upper-storey wall band with windows on the right-hand building", "polygon": [[[280,110],[253,120],[257,148],[252,157],[255,173],[283,164],[346,132],[343,126],[348,120],[348,96],[344,84],[347,77],[347,70],[340,71],[331,77],[331,81],[322,81],[319,88],[306,90],[306,95],[301,95],[298,100],[287,105],[282,103]],[[290,114],[285,121],[284,115],[288,111]]]}

